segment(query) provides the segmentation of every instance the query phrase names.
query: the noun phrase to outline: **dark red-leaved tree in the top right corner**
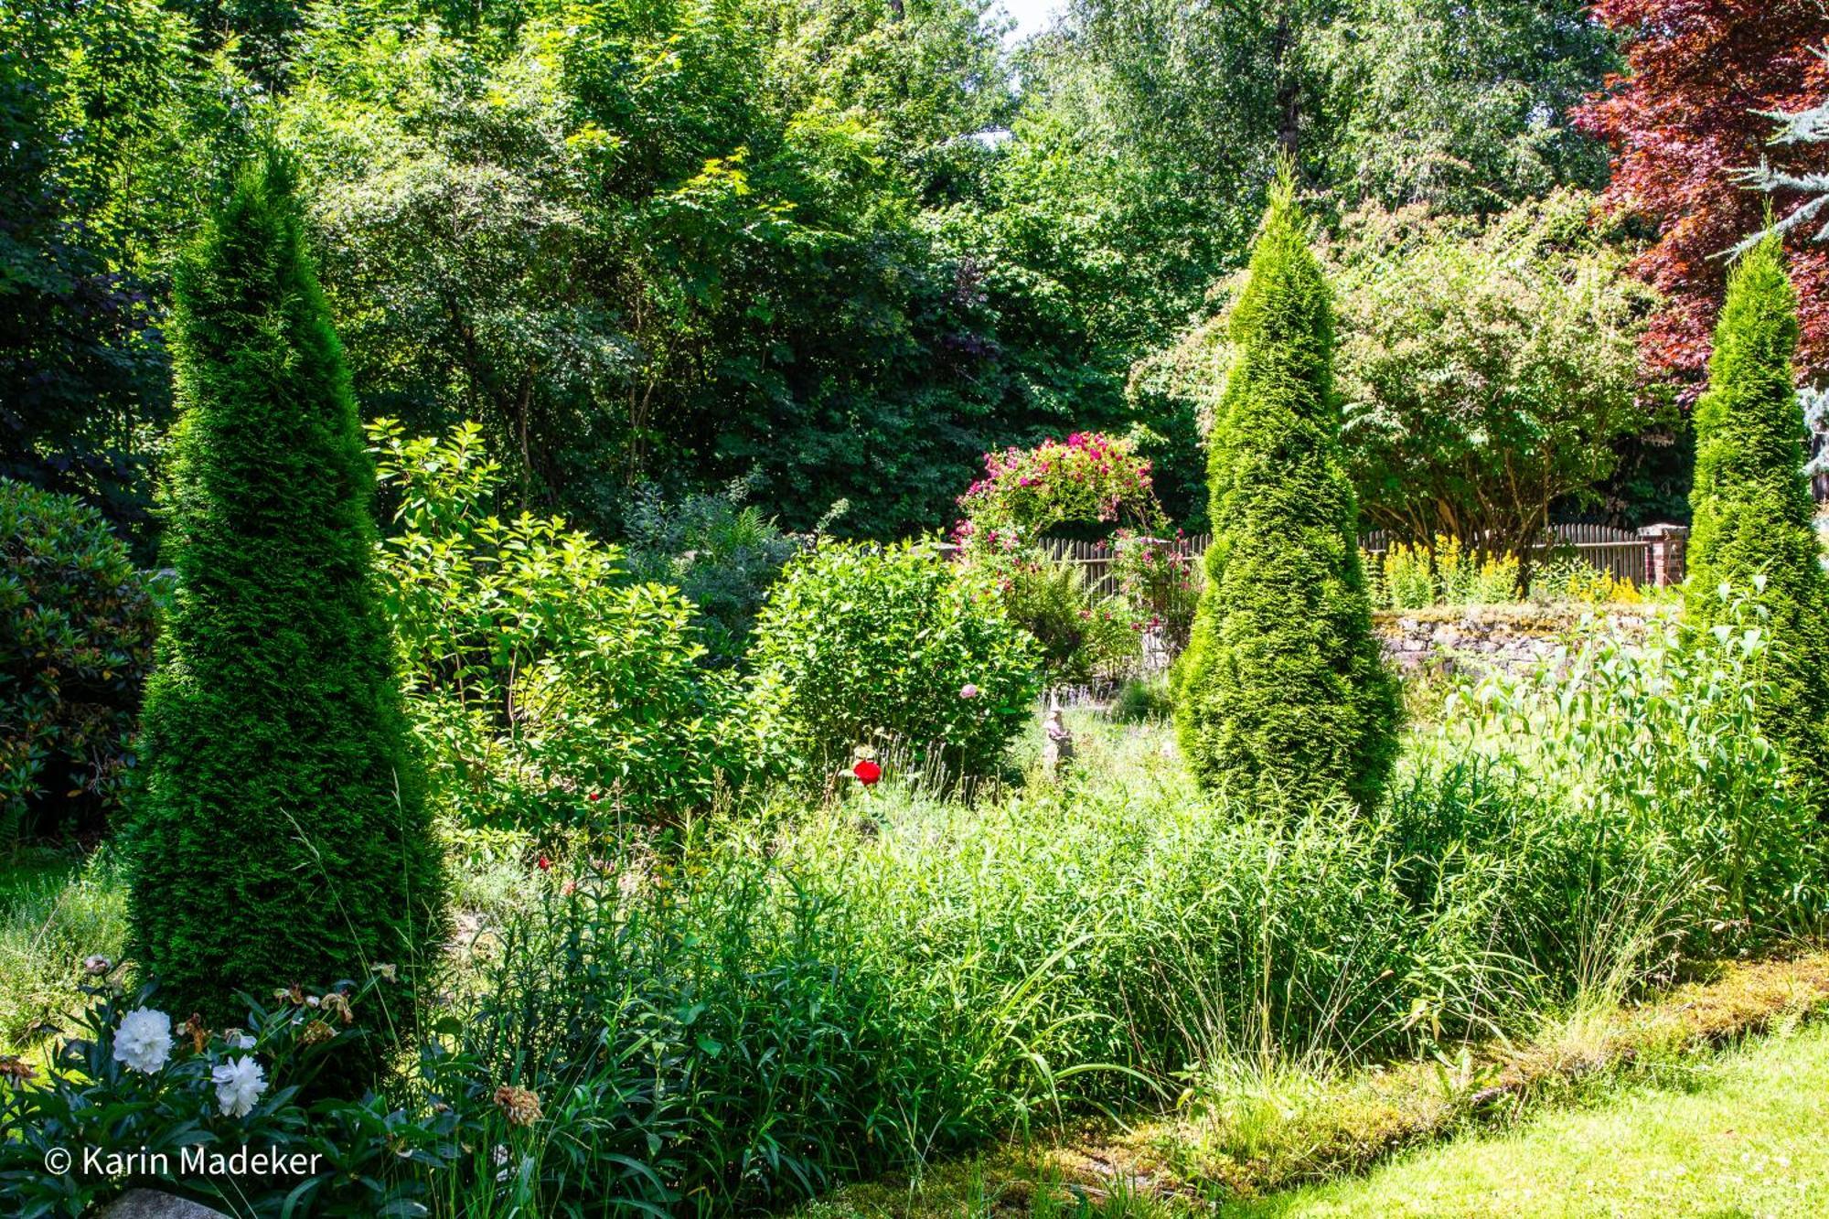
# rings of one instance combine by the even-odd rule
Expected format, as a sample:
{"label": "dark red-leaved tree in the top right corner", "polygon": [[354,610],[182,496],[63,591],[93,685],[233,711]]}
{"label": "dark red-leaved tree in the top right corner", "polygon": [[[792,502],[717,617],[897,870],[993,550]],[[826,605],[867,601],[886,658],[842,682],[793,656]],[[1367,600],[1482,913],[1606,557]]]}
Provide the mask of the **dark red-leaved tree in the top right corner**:
{"label": "dark red-leaved tree in the top right corner", "polygon": [[[1628,71],[1575,112],[1613,146],[1602,207],[1644,218],[1657,242],[1635,271],[1668,295],[1644,337],[1653,373],[1695,381],[1727,284],[1725,251],[1758,231],[1767,205],[1800,200],[1749,190],[1738,170],[1763,159],[1824,168],[1829,145],[1769,145],[1759,112],[1803,110],[1829,93],[1829,7],[1822,0],[1597,0],[1593,13],[1624,38]],[[1829,245],[1820,225],[1792,234],[1805,373],[1829,372]]]}

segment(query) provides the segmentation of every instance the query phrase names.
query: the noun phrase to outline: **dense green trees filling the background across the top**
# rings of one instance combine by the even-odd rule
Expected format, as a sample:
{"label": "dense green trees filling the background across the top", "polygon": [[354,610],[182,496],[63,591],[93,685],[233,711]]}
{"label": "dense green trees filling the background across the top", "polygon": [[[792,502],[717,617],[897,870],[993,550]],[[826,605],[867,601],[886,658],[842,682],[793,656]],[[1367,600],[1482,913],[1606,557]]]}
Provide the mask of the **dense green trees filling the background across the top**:
{"label": "dense green trees filling the background across the top", "polygon": [[1644,48],[1602,11],[1070,0],[1006,44],[984,0],[13,5],[0,467],[148,553],[168,267],[262,135],[298,154],[358,410],[477,419],[518,505],[618,533],[642,485],[743,478],[785,527],[905,534],[980,452],[1094,428],[1198,527],[1198,410],[1149,361],[1242,265],[1275,159],[1333,229],[1600,189],[1567,110],[1619,31]]}

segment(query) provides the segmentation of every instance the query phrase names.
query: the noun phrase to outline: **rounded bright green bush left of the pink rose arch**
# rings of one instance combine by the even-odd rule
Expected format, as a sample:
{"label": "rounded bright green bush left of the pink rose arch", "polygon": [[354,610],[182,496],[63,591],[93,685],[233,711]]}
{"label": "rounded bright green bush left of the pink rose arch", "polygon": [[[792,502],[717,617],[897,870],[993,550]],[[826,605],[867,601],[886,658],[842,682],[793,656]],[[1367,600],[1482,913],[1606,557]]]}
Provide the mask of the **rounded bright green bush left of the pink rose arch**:
{"label": "rounded bright green bush left of the pink rose arch", "polygon": [[938,547],[827,542],[763,606],[755,732],[816,772],[887,734],[984,774],[1030,716],[1037,659],[997,589]]}

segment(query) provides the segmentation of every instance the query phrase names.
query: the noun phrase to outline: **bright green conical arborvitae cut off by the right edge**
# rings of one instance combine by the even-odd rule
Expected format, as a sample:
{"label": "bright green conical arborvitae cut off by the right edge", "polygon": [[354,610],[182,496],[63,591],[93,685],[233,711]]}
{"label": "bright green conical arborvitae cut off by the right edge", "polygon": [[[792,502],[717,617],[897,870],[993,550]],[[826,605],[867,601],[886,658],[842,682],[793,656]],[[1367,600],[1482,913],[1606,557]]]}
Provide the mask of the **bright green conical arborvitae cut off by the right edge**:
{"label": "bright green conical arborvitae cut off by the right edge", "polygon": [[1752,595],[1765,577],[1770,694],[1761,717],[1776,743],[1814,765],[1829,756],[1829,577],[1811,527],[1796,350],[1798,298],[1772,236],[1728,275],[1708,390],[1695,403],[1685,613],[1714,626],[1730,611],[1723,584]]}

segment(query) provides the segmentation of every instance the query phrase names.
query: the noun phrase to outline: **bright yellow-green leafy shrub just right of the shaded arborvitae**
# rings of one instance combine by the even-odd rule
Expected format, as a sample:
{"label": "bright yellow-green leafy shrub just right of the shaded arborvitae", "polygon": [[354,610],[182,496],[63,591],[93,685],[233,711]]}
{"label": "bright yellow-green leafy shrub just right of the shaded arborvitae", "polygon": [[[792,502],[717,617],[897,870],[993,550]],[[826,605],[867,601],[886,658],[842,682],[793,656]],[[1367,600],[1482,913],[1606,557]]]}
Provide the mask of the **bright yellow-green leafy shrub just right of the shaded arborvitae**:
{"label": "bright yellow-green leafy shrub just right of the shaded arborvitae", "polygon": [[611,809],[651,818],[741,771],[737,690],[706,672],[691,604],[631,584],[622,551],[560,518],[496,516],[501,470],[465,423],[371,425],[397,531],[384,606],[441,811],[541,829]]}

